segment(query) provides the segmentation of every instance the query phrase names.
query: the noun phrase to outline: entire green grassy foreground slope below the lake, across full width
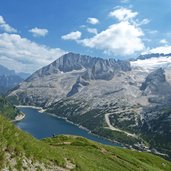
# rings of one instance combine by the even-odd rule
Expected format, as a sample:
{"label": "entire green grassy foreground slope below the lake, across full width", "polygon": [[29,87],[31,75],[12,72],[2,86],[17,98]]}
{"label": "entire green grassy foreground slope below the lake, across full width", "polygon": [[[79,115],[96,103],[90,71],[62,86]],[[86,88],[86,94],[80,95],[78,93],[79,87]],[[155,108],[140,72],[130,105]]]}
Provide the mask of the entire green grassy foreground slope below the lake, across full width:
{"label": "entire green grassy foreground slope below the lake, across full width", "polygon": [[82,137],[61,135],[40,141],[0,116],[1,169],[27,170],[37,165],[35,170],[45,170],[42,163],[49,170],[57,170],[55,166],[81,171],[171,170],[171,163],[158,156],[105,146]]}

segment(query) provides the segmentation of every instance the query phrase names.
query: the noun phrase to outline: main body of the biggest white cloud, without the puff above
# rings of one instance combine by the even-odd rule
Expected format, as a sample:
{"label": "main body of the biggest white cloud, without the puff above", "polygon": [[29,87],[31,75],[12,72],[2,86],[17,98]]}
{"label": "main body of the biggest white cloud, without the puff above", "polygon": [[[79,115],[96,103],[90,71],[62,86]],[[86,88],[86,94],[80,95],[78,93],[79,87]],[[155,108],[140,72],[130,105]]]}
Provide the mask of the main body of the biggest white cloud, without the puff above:
{"label": "main body of the biggest white cloud, without the puff above", "polygon": [[124,21],[109,26],[92,38],[77,42],[86,47],[101,49],[115,55],[131,55],[144,49],[141,36],[143,32],[140,28]]}

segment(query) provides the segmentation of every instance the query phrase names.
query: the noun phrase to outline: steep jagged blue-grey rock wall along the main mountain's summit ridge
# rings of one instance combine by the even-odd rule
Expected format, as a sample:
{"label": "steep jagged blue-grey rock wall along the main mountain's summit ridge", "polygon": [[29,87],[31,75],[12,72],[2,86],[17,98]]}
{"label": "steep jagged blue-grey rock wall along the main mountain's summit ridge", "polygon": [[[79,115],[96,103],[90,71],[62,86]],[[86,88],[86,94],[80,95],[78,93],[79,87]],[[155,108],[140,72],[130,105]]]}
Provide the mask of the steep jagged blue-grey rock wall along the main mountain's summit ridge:
{"label": "steep jagged blue-grey rock wall along the main mountain's summit ridge", "polygon": [[[87,79],[101,79],[102,77],[105,78],[104,73],[113,75],[118,71],[130,71],[131,67],[129,61],[116,61],[114,59],[90,57],[87,55],[80,55],[69,52],[51,64],[41,68],[36,72],[36,74],[38,74],[38,76],[44,76],[54,73],[60,74],[78,70],[91,72],[90,75],[93,75],[93,77]],[[112,78],[112,76],[110,76],[110,78]]]}

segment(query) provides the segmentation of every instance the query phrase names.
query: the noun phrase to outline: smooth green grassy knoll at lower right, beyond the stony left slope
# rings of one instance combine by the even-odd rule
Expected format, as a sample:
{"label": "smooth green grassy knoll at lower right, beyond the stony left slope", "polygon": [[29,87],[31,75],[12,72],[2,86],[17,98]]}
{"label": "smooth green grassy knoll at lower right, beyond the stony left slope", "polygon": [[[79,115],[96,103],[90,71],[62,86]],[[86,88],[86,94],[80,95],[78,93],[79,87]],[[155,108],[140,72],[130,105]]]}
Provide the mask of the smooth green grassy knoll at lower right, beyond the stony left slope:
{"label": "smooth green grassy knoll at lower right, beyond the stony left slope", "polygon": [[75,170],[159,171],[170,170],[171,163],[149,153],[105,146],[82,137],[57,136],[44,139],[57,149],[62,149],[75,164]]}

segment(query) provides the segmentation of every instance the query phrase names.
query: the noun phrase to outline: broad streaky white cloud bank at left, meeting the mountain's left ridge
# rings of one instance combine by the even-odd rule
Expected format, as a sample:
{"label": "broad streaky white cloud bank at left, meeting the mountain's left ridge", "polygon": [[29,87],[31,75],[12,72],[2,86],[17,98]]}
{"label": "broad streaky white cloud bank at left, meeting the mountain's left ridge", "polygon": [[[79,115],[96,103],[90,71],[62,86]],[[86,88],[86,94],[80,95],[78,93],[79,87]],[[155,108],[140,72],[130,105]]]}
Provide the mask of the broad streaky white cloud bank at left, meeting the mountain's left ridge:
{"label": "broad streaky white cloud bank at left, meeting the mountain's left ridge", "polygon": [[18,34],[0,34],[0,63],[17,72],[33,72],[66,53],[40,45]]}

